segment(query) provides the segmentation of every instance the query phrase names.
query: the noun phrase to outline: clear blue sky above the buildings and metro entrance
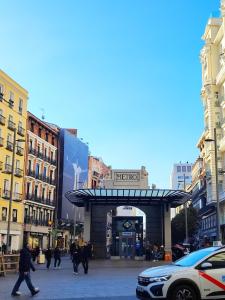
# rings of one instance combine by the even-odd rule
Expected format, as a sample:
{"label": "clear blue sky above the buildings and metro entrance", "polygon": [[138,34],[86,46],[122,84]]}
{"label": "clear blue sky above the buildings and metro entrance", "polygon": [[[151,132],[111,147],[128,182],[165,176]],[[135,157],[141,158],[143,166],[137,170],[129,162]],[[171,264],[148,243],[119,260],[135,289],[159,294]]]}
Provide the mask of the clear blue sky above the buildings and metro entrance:
{"label": "clear blue sky above the buildings and metro entrance", "polygon": [[169,187],[203,130],[201,36],[219,0],[0,0],[0,68],[29,110]]}

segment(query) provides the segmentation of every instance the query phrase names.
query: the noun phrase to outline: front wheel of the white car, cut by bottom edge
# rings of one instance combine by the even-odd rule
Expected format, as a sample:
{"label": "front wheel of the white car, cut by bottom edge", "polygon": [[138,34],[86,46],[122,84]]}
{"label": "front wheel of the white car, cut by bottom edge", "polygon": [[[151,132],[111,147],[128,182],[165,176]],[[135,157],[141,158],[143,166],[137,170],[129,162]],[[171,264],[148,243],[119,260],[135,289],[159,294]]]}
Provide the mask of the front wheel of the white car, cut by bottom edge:
{"label": "front wheel of the white car, cut by bottom edge", "polygon": [[170,300],[198,300],[195,289],[186,284],[178,285],[171,293]]}

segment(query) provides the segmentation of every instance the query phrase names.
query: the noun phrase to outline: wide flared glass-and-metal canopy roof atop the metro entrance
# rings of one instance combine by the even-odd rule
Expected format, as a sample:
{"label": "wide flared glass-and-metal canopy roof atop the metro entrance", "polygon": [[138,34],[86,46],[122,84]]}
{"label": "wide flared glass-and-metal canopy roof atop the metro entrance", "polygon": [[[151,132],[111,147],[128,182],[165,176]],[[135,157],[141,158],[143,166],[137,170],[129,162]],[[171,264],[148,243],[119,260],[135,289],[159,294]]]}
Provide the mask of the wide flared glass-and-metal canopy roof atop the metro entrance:
{"label": "wide flared glass-and-metal canopy roof atop the metro entrance", "polygon": [[69,191],[66,198],[75,206],[85,204],[101,205],[157,205],[170,204],[177,207],[191,197],[190,193],[181,190],[167,189],[79,189]]}

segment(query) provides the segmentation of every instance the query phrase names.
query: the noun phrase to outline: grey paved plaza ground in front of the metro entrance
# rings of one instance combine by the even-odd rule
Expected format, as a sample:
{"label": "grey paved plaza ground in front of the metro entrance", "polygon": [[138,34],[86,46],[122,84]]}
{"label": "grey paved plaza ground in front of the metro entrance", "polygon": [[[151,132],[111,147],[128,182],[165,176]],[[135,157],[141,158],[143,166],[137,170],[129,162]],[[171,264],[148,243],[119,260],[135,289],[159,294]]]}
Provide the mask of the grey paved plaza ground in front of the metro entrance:
{"label": "grey paved plaza ground in front of the metro entrance", "polygon": [[[53,261],[52,261],[53,262]],[[45,265],[36,265],[36,272],[31,272],[31,279],[40,293],[35,300],[134,300],[138,274],[150,267],[164,262],[146,261],[110,261],[93,260],[89,264],[89,273],[79,266],[79,275],[73,275],[69,257],[63,257],[61,269],[45,269]],[[11,297],[11,290],[17,274],[0,277],[0,300],[32,299],[23,282],[20,297]]]}

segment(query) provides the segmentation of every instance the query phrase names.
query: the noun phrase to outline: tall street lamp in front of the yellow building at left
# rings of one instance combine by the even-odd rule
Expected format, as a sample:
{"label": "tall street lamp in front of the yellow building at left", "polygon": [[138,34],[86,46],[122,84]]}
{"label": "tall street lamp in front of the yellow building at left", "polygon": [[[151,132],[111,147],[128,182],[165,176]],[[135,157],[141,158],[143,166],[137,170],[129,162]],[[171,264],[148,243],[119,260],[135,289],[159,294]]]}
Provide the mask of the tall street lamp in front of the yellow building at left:
{"label": "tall street lamp in front of the yellow building at left", "polygon": [[7,242],[6,242],[6,250],[7,250],[8,253],[9,253],[9,237],[10,237],[10,226],[11,226],[11,211],[12,211],[12,201],[13,201],[13,181],[14,181],[15,152],[16,152],[16,143],[17,142],[25,142],[25,140],[16,139],[16,128],[14,128],[14,130],[13,130],[12,172],[11,172],[9,213],[8,213],[8,224],[7,224]]}

